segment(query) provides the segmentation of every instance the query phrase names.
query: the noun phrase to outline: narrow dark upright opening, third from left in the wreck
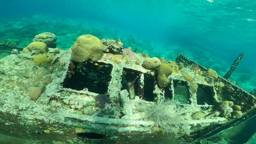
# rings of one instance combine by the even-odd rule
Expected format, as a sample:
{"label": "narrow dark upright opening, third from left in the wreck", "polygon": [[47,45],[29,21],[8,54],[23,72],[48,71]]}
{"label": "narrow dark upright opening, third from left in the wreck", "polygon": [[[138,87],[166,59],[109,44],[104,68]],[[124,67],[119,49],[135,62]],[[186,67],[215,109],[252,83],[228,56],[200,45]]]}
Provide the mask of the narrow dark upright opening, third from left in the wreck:
{"label": "narrow dark upright opening, third from left in the wreck", "polygon": [[144,74],[144,100],[154,101],[154,86],[155,86],[155,77],[150,74]]}

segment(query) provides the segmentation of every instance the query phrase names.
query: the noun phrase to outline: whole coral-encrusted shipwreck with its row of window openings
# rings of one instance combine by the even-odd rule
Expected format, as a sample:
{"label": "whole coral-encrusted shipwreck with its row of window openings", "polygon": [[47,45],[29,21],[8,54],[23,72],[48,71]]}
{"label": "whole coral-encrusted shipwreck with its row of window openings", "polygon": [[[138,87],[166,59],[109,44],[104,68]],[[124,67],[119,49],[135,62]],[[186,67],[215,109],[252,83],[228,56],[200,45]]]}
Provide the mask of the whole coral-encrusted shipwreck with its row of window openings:
{"label": "whole coral-encrusted shipwreck with its row of window openings", "polygon": [[1,128],[48,143],[195,141],[252,117],[254,95],[213,69],[123,48],[81,35],[66,51],[38,40],[0,59]]}

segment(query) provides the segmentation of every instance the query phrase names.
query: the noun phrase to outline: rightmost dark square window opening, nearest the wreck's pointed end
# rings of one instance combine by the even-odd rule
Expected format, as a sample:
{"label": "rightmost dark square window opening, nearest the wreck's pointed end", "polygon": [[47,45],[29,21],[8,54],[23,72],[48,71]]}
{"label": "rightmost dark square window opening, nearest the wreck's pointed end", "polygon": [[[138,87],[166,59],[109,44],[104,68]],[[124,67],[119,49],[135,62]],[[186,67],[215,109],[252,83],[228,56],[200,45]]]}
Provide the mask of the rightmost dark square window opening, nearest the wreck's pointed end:
{"label": "rightmost dark square window opening, nearest the wreck's pointed end", "polygon": [[197,84],[197,92],[196,92],[196,98],[197,98],[197,105],[213,105],[214,104],[214,92],[213,92],[213,86],[206,86]]}

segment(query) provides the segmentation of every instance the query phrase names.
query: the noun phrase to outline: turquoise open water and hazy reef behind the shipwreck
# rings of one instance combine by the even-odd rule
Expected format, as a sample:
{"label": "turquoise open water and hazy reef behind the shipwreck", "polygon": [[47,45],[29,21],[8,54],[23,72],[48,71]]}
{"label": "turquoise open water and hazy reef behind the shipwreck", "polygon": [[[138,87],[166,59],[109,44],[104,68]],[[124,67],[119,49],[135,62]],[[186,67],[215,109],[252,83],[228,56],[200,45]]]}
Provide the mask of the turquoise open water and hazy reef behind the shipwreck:
{"label": "turquoise open water and hazy reef behind the shipwreck", "polygon": [[[8,0],[0,9],[0,43],[9,39],[23,48],[51,32],[67,50],[83,34],[119,38],[150,57],[174,60],[183,52],[220,76],[244,52],[229,80],[256,89],[255,0]],[[10,51],[0,49],[0,57]]]}

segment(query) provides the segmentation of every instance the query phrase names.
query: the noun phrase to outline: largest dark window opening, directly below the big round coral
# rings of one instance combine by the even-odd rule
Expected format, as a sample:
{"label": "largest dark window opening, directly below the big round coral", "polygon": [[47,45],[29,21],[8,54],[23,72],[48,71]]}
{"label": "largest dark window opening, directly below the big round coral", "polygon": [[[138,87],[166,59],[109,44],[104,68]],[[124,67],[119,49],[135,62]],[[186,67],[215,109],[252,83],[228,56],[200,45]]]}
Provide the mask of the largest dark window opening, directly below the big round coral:
{"label": "largest dark window opening, directly below the big round coral", "polygon": [[88,91],[105,94],[111,80],[113,66],[101,62],[71,62],[63,87],[75,90],[88,88]]}

